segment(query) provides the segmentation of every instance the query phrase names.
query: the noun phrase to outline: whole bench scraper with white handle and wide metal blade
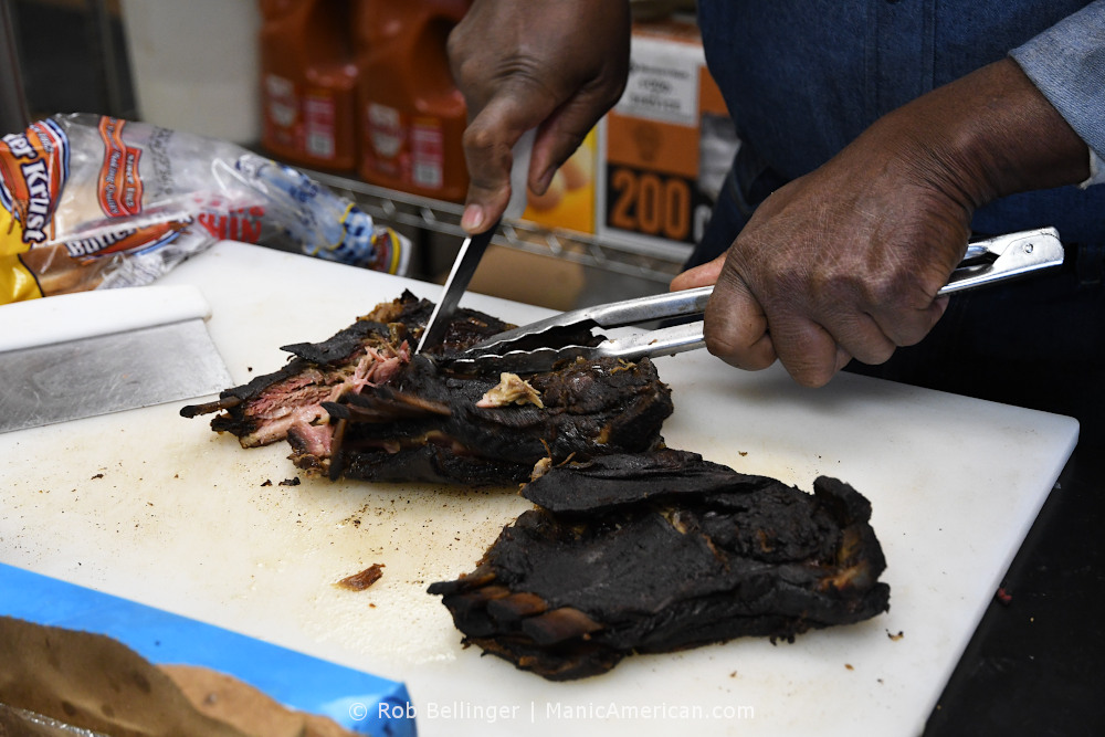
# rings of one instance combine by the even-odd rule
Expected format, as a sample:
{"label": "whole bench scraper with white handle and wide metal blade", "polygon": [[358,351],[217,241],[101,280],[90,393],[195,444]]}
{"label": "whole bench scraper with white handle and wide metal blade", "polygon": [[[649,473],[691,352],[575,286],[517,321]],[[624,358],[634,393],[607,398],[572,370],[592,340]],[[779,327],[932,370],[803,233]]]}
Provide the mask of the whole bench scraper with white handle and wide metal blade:
{"label": "whole bench scraper with white handle and wide metal blade", "polygon": [[233,379],[192,285],[0,306],[0,433],[217,394]]}

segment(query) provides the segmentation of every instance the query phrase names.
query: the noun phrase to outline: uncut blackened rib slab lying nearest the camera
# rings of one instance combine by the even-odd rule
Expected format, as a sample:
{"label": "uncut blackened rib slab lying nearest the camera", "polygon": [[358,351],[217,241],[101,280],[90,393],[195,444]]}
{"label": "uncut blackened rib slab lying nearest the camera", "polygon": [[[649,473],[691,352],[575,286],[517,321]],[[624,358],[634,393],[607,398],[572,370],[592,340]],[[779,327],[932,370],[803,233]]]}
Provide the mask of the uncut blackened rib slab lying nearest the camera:
{"label": "uncut blackened rib slab lying nearest the camera", "polygon": [[554,467],[523,495],[539,508],[473,572],[429,590],[466,643],[552,681],[632,652],[791,640],[890,606],[871,505],[833,478],[810,495],[663,450]]}

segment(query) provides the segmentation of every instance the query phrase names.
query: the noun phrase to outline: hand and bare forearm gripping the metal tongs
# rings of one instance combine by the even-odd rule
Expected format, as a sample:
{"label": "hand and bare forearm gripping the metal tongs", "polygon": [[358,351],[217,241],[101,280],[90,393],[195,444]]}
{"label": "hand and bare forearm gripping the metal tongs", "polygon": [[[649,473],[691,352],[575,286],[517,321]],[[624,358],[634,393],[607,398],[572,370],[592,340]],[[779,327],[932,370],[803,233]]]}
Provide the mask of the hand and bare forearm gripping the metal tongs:
{"label": "hand and bare forearm gripping the metal tongs", "polygon": [[1085,144],[1006,60],[877,120],[672,288],[716,283],[711,352],[744,369],[778,358],[822,386],[853,357],[880,364],[928,334],[977,207],[1087,175]]}

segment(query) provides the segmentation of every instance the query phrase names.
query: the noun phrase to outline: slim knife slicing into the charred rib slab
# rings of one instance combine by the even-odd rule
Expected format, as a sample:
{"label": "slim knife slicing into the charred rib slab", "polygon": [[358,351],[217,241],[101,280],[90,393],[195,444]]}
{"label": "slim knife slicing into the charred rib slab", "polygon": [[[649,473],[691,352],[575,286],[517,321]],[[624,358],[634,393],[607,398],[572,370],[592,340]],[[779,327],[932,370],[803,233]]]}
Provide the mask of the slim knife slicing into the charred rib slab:
{"label": "slim knife slicing into the charred rib slab", "polygon": [[[526,179],[529,173],[529,157],[534,148],[535,133],[536,129],[529,129],[522,134],[522,138],[514,146],[514,161],[511,166],[511,201],[503,213],[504,218],[517,218],[526,209]],[[472,275],[475,274],[480,260],[483,259],[484,252],[502,222],[502,219],[496,220],[495,224],[484,232],[464,239],[460,253],[456,254],[456,261],[453,262],[453,267],[449,271],[441,298],[430,314],[430,320],[422,330],[422,337],[419,338],[418,348],[414,349],[415,354],[424,352],[427,348],[441,345],[444,340],[445,330],[456,312],[456,305],[465,289],[469,288]]]}

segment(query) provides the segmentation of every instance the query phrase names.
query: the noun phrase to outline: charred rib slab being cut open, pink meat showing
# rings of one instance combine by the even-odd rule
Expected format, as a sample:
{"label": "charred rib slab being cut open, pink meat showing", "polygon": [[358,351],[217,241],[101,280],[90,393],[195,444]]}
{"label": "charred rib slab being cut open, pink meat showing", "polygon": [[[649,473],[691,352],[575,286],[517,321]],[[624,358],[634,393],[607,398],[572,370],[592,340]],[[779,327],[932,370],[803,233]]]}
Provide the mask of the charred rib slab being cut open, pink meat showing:
{"label": "charred rib slab being cut open, pink meat showing", "polygon": [[[244,448],[287,440],[297,467],[332,478],[511,484],[527,480],[543,459],[662,444],[671,392],[648,359],[567,362],[528,378],[541,408],[481,406],[501,377],[451,373],[411,355],[432,308],[404,293],[324,343],[285,346],[293,358],[278,371],[181,414],[221,412],[212,429],[236,435]],[[461,309],[440,357],[508,327]]]}

